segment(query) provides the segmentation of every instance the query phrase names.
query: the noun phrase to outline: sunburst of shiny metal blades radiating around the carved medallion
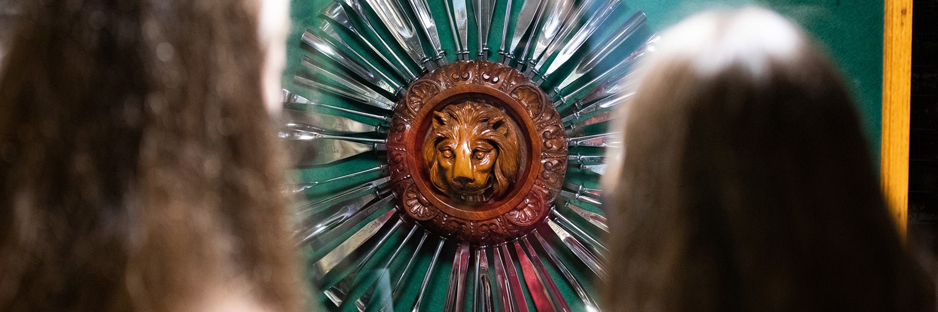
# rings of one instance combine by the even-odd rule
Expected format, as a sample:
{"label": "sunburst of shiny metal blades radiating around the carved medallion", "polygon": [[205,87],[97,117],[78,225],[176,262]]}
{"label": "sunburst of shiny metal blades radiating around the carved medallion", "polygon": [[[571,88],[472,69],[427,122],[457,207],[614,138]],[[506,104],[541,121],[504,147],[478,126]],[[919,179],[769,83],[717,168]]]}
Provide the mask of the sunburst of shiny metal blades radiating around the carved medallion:
{"label": "sunburst of shiny metal blades radiating around the carved medallion", "polygon": [[[307,200],[294,216],[297,244],[313,250],[310,278],[327,305],[344,311],[598,311],[591,283],[605,276],[607,249],[600,236],[609,225],[601,215],[601,191],[586,186],[595,186],[605,170],[604,149],[621,144],[617,133],[604,129],[615,117],[613,108],[631,96],[634,67],[654,51],[657,36],[644,26],[643,12],[622,14],[628,10],[621,0],[445,0],[433,5],[427,0],[324,3],[316,12],[316,25],[302,34],[303,69],[295,73],[289,87],[293,92],[282,91],[286,110],[279,133],[297,168],[315,171],[346,166],[352,159],[380,160],[374,167],[327,178],[308,175],[304,178],[313,181],[287,187]],[[447,38],[452,44],[445,46]],[[448,235],[427,228],[421,222],[431,222],[429,217],[416,222],[415,213],[401,207],[410,193],[400,186],[400,173],[390,172],[401,167],[391,161],[400,158],[391,154],[401,148],[389,138],[409,133],[411,126],[403,126],[405,131],[396,123],[421,118],[401,117],[406,110],[399,105],[411,103],[418,80],[435,77],[434,71],[454,70],[453,63],[512,67],[513,75],[523,75],[525,83],[537,85],[550,99],[550,111],[559,116],[551,122],[563,128],[567,178],[560,175],[563,181],[556,189],[542,186],[547,195],[539,204],[546,208],[535,217],[536,224],[518,228],[522,230],[506,239],[467,240],[465,234],[455,234],[458,230]],[[488,72],[473,75],[491,80]],[[453,74],[456,80],[458,76]],[[486,106],[494,100],[478,101]],[[416,115],[419,108],[414,110]],[[486,118],[482,120],[488,122]],[[444,122],[449,122],[445,116],[430,114],[422,123],[433,127]],[[489,130],[501,126],[492,125]],[[420,132],[416,140],[424,136]],[[363,177],[378,178],[361,183]],[[536,184],[534,178],[531,184]],[[488,200],[492,191],[485,192],[478,193],[488,201],[482,206],[501,202]],[[432,206],[422,198],[420,202]],[[447,204],[457,206],[450,209],[482,207]],[[448,259],[453,259],[451,267]],[[439,281],[447,283],[445,296]]]}

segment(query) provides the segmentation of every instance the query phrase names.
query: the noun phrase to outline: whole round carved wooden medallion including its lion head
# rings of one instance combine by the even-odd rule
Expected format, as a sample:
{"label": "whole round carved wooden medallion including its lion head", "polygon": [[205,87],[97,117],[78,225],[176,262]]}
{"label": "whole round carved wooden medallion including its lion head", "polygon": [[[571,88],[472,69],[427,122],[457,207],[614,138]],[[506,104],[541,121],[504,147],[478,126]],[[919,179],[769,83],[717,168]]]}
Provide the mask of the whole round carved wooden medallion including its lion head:
{"label": "whole round carved wooden medallion including its lion head", "polygon": [[483,245],[547,216],[567,171],[567,136],[550,99],[515,68],[489,61],[458,61],[412,83],[387,152],[405,215]]}

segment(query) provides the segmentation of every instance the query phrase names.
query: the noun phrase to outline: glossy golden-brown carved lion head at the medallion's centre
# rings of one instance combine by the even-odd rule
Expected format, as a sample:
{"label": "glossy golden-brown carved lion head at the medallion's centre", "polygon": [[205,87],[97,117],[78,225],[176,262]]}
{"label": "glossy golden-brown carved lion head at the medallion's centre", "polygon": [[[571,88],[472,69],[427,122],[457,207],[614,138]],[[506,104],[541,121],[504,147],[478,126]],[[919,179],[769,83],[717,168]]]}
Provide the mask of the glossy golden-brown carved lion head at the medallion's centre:
{"label": "glossy golden-brown carved lion head at the medallion's centre", "polygon": [[518,127],[489,104],[465,102],[434,111],[423,145],[433,186],[461,201],[504,194],[521,167]]}

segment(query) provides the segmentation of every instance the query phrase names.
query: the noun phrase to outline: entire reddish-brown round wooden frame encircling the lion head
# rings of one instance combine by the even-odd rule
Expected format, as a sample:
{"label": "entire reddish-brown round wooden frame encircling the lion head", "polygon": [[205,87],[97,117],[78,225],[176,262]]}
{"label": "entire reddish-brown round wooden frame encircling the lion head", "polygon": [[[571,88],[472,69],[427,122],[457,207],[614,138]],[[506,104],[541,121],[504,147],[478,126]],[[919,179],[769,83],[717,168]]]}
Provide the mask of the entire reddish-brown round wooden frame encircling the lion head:
{"label": "entire reddish-brown round wooden frame encircling the lion head", "polygon": [[[522,168],[507,195],[471,207],[431,186],[421,148],[431,112],[468,100],[505,111],[523,141]],[[550,212],[567,171],[567,135],[550,98],[517,69],[458,61],[411,84],[391,120],[387,162],[403,215],[444,237],[498,244],[527,233]]]}

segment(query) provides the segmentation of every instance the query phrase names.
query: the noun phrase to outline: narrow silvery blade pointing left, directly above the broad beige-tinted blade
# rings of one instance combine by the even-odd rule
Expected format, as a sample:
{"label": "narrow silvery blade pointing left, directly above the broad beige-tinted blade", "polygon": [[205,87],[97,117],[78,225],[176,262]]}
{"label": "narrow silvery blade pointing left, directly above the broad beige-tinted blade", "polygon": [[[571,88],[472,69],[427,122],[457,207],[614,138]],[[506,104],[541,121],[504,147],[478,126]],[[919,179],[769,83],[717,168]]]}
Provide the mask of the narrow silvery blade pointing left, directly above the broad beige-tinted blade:
{"label": "narrow silvery blade pointing left, directly above the broad beige-tinted blade", "polygon": [[312,111],[284,109],[281,112],[284,124],[288,127],[306,128],[329,134],[384,133],[381,126],[371,126],[355,120]]}

